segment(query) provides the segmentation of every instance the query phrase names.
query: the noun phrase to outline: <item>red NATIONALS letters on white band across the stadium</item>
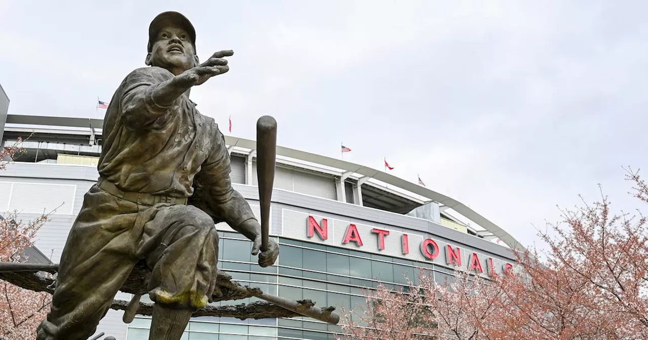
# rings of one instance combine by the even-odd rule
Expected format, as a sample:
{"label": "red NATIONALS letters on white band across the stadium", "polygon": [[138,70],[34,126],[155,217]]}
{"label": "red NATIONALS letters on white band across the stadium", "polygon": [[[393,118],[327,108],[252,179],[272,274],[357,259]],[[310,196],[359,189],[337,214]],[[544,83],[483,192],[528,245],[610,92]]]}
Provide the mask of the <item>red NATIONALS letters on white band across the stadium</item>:
{"label": "red NATIONALS letters on white band across the stadium", "polygon": [[[482,276],[513,270],[513,264],[500,258],[406,231],[377,228],[354,221],[327,218],[289,209],[283,209],[282,236],[334,247],[432,262],[439,266],[476,271]],[[459,238],[472,238],[457,232]],[[487,242],[487,241],[483,241]]]}

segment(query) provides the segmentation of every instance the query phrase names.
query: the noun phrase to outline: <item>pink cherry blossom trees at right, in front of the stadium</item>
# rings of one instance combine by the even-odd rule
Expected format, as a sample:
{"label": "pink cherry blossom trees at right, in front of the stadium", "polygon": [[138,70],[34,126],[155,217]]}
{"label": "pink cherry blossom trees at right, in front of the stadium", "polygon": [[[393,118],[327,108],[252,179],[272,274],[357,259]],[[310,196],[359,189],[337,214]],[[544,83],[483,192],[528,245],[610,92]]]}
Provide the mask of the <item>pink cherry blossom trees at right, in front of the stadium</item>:
{"label": "pink cherry blossom trees at right, in front of the stadium", "polygon": [[[638,172],[627,179],[648,203]],[[486,279],[459,268],[452,282],[421,272],[407,291],[369,290],[366,306],[345,311],[339,339],[645,339],[646,219],[610,208],[601,192],[561,210],[562,222],[538,235],[546,249],[515,253],[515,271]]]}

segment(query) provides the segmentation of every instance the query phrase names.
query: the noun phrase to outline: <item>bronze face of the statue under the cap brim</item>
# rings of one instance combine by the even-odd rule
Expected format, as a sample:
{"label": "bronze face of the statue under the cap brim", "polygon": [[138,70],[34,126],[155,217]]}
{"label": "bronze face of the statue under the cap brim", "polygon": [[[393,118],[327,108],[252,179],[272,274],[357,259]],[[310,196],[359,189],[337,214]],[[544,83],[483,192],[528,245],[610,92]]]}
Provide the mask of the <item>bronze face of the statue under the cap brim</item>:
{"label": "bronze face of the statue under the cap brim", "polygon": [[196,65],[196,51],[189,34],[182,28],[165,27],[157,34],[146,63],[163,67],[178,75]]}

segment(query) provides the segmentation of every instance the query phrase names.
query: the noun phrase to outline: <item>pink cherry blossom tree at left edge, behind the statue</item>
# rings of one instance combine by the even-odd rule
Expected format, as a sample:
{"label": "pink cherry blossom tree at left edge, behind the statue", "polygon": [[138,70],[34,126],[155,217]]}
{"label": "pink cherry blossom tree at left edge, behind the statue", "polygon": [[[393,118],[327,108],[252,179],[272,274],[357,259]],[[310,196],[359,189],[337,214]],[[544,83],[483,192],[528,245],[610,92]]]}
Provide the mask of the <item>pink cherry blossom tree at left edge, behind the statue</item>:
{"label": "pink cherry blossom tree at left edge, behind the statue", "polygon": [[[5,170],[21,140],[0,150],[0,170]],[[38,229],[49,219],[43,214],[34,220],[21,221],[17,212],[0,216],[0,262],[23,262],[25,248],[32,245]],[[35,339],[36,327],[49,312],[51,295],[19,288],[0,280],[0,339]]]}

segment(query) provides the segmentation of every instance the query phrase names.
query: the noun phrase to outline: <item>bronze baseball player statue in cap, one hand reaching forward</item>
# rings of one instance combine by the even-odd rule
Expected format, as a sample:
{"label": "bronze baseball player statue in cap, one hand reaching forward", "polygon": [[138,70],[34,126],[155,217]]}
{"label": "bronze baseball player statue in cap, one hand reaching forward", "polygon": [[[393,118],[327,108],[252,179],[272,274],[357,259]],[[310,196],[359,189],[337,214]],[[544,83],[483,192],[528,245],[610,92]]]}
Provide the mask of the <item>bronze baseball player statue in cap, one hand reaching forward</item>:
{"label": "bronze baseball player statue in cap, one hand reaching forward", "polygon": [[180,339],[192,312],[211,300],[218,260],[213,216],[187,205],[194,181],[211,213],[253,241],[260,266],[279,255],[273,240],[260,251],[259,221],[231,186],[225,139],[189,99],[192,86],[229,70],[224,58],[233,52],[200,63],[194,27],[178,12],[155,17],[148,37],[148,67],[126,76],[106,111],[100,177],[67,238],[39,340],[94,334],[139,261],[152,269],[149,339]]}

